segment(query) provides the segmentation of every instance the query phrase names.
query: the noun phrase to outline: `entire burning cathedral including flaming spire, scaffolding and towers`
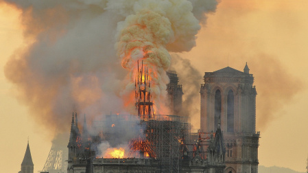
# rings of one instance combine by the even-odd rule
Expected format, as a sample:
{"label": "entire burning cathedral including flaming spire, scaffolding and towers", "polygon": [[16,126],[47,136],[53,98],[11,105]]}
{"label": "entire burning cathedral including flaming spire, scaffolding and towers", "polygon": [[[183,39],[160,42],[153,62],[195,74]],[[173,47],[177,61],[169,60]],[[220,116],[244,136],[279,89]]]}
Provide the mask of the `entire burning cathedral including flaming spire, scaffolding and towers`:
{"label": "entire burning cathedral including flaming spire, scaffolding and towers", "polygon": [[[226,67],[204,74],[198,132],[191,132],[189,117],[177,115],[183,92],[176,71],[167,73],[169,106],[174,115],[158,115],[152,102],[148,69],[143,62],[138,62],[137,69],[137,115],[105,115],[104,119],[93,121],[91,128],[87,128],[84,117],[81,131],[78,117],[73,114],[67,146],[68,173],[258,172],[257,92],[247,63],[244,71]],[[128,128],[121,128],[123,122]],[[134,136],[123,135],[126,132]],[[114,147],[124,138],[127,148]],[[108,141],[108,147],[102,149],[104,141]]]}

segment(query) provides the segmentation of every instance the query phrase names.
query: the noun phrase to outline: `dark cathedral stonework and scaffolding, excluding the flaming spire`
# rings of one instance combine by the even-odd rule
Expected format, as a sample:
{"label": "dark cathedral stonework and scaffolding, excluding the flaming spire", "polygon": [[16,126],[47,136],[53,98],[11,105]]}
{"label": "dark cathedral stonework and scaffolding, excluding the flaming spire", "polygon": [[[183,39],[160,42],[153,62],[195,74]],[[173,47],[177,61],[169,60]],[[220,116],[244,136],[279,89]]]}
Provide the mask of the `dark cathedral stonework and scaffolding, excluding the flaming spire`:
{"label": "dark cathedral stonework and scaffolding, excluding the flaming spire", "polygon": [[[174,115],[165,116],[180,118],[177,114],[182,108],[182,85],[178,84],[175,71],[169,71],[167,74],[170,78],[167,91]],[[154,141],[151,137],[161,141],[156,146],[163,152],[161,150],[153,152],[161,154],[158,157],[140,159],[95,157],[95,153],[90,150],[93,146],[89,145],[95,144],[97,140],[95,137],[88,137],[85,122],[82,135],[80,134],[77,115],[75,115],[75,121],[74,116],[72,117],[71,136],[67,146],[69,148],[67,172],[257,173],[260,133],[256,132],[257,91],[253,83],[254,77],[249,73],[247,63],[244,71],[225,67],[206,72],[204,84],[200,87],[200,130],[198,132],[190,132],[188,122],[153,117],[148,119],[147,127],[151,129],[146,130],[146,137],[149,141]],[[150,124],[150,122],[156,124]],[[180,125],[174,126],[174,123]],[[106,127],[110,128],[112,125],[108,124]],[[156,125],[159,126],[156,127]],[[189,130],[184,127],[189,127],[187,128]],[[174,134],[176,135],[172,136]],[[116,136],[110,135],[112,138]],[[167,138],[161,139],[164,136]],[[182,138],[178,141],[174,140],[177,139],[176,137]],[[80,141],[83,142],[80,144]],[[169,150],[170,152],[167,153]],[[145,150],[141,153],[152,152]]]}

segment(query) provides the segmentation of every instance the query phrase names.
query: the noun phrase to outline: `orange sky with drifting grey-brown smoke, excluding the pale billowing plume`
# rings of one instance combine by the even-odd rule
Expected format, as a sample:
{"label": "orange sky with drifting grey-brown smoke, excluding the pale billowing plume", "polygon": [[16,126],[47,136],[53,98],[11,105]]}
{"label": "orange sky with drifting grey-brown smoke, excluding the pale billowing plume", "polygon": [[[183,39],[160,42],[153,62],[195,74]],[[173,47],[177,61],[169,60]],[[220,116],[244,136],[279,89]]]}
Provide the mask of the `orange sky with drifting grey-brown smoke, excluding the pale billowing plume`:
{"label": "orange sky with drifting grey-brown smoke, excluding the pale billowing plume", "polygon": [[[71,112],[90,118],[123,111],[128,71],[121,67],[115,43],[126,17],[134,19],[150,1],[135,6],[136,1],[17,2],[0,3],[0,169],[20,170],[29,136],[36,172],[43,168],[54,134],[69,128]],[[308,1],[173,2],[174,8],[150,7],[171,23],[165,24],[169,35],[158,32],[183,84],[194,128],[204,72],[227,65],[242,71],[248,62],[258,93],[260,165],[305,172]],[[187,23],[179,21],[191,24],[181,29]]]}

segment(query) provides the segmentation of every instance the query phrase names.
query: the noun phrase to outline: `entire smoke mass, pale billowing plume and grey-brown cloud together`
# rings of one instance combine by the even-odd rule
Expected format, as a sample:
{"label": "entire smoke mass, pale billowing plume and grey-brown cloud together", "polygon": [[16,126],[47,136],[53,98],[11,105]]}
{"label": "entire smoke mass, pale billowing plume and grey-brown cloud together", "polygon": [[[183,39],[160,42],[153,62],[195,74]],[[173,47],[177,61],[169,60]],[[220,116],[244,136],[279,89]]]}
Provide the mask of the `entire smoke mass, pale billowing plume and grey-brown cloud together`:
{"label": "entire smoke mass, pale billowing plume and grey-brown cloud together", "polygon": [[133,71],[126,78],[121,64],[131,70],[142,56],[157,72],[152,73],[154,97],[163,98],[168,51],[195,46],[204,23],[198,19],[217,5],[215,0],[3,2],[21,10],[29,43],[10,58],[5,76],[30,115],[59,131],[68,130],[72,111],[93,117],[123,112],[123,96],[133,90],[134,78]]}

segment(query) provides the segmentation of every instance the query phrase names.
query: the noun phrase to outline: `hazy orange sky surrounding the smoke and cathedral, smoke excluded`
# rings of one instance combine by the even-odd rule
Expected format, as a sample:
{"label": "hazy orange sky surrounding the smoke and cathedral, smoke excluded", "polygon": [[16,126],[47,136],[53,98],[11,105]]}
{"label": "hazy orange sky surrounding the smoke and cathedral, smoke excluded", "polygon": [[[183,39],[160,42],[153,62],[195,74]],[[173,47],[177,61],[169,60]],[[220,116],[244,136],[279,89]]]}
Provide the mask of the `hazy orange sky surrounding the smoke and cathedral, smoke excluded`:
{"label": "hazy orange sky surrounding the smoke and cathedral, smoke excluded", "polygon": [[[258,93],[259,164],[299,172],[306,172],[308,154],[307,8],[305,0],[222,0],[216,11],[207,15],[206,23],[202,23],[196,47],[171,54],[172,68],[177,67],[172,63],[188,60],[185,62],[195,70],[196,76],[190,78],[197,82],[183,79],[185,67],[178,67],[183,68],[178,76],[184,93],[197,95],[198,89],[185,89],[187,82],[200,85],[204,72],[227,66],[242,71],[247,62]],[[10,58],[31,43],[23,34],[20,15],[21,10],[0,3],[0,152],[5,156],[0,158],[0,168],[4,172],[20,170],[28,139],[34,172],[41,170],[55,130],[32,116],[30,103],[21,98],[18,88],[5,77],[5,65]],[[184,102],[185,99],[188,100],[184,95]],[[198,117],[199,106],[194,105],[197,113],[193,117]],[[192,123],[198,128],[198,122]],[[62,124],[69,126],[70,122]]]}

